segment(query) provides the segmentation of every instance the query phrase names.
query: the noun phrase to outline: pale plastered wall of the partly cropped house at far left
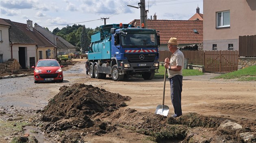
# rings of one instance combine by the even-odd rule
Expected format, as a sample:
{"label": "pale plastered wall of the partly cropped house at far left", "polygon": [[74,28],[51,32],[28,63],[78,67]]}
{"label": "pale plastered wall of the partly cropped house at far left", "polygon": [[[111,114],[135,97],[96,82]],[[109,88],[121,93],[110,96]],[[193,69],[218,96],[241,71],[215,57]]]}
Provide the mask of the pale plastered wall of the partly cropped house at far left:
{"label": "pale plastered wall of the partly cropped house at far left", "polygon": [[0,41],[0,55],[3,57],[3,62],[11,59],[11,50],[9,42],[9,26],[0,26],[2,31],[2,40]]}

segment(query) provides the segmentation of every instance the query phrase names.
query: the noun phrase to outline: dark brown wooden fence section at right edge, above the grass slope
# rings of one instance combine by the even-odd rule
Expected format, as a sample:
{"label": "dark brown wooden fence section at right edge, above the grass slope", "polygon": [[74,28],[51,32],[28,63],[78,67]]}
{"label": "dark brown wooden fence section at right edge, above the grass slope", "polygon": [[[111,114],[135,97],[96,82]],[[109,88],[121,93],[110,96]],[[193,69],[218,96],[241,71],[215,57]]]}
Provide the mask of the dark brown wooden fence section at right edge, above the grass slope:
{"label": "dark brown wooden fence section at right edge, above the grass slope", "polygon": [[256,57],[256,35],[239,36],[239,55]]}

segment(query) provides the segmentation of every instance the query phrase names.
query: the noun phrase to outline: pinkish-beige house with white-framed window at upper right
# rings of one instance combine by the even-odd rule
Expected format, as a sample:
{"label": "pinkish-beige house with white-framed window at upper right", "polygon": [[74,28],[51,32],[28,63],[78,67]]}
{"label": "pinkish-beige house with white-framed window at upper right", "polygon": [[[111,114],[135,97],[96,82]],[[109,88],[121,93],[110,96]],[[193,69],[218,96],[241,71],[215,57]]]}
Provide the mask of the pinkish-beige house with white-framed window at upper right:
{"label": "pinkish-beige house with white-framed window at upper right", "polygon": [[256,35],[256,0],[204,0],[204,50],[239,50],[239,36]]}

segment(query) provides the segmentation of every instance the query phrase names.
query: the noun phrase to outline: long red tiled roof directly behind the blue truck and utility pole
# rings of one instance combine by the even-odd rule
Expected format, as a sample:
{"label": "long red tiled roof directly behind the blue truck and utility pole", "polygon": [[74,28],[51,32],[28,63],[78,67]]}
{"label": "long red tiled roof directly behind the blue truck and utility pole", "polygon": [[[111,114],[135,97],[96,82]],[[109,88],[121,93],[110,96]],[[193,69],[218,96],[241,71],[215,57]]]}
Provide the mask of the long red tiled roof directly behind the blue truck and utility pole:
{"label": "long red tiled roof directly behind the blue truck and utility pole", "polygon": [[[140,25],[135,19],[130,24]],[[199,44],[203,42],[203,21],[188,20],[148,20],[148,28],[156,29],[160,34],[161,44],[166,44],[171,37],[178,39],[178,44]],[[197,30],[197,33],[193,31]]]}

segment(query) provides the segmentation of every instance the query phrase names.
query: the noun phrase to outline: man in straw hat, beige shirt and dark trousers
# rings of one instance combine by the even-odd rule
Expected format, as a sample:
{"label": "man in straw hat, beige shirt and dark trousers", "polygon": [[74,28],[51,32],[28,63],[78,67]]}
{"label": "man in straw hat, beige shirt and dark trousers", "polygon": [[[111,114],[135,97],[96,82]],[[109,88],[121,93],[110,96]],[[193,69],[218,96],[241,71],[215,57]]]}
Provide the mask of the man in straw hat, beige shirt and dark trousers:
{"label": "man in straw hat, beige shirt and dark trousers", "polygon": [[168,78],[171,86],[171,103],[174,106],[172,117],[182,116],[181,92],[182,92],[182,69],[184,67],[184,55],[178,49],[177,38],[170,38],[167,43],[171,58],[165,59],[165,68],[168,69]]}

